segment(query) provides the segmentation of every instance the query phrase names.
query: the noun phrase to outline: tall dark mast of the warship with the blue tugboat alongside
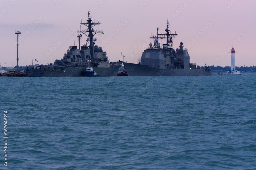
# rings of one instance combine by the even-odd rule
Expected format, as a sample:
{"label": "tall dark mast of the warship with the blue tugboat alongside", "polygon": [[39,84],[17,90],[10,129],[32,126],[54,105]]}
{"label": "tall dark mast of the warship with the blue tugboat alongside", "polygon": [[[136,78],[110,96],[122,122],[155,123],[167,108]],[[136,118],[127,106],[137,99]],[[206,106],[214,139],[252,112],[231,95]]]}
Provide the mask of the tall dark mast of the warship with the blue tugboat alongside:
{"label": "tall dark mast of the warship with the blue tugboat alongside", "polygon": [[87,42],[89,41],[90,43],[90,53],[91,55],[94,54],[94,42],[97,40],[96,38],[93,38],[93,36],[95,34],[97,34],[98,32],[102,32],[102,30],[98,31],[98,30],[93,30],[92,27],[94,27],[95,25],[100,24],[100,22],[93,22],[92,19],[90,18],[90,11],[88,11],[88,20],[86,23],[80,23],[81,25],[85,25],[88,29],[87,30],[77,30],[77,32],[81,32],[84,35],[86,35],[86,33],[88,32],[87,36]]}

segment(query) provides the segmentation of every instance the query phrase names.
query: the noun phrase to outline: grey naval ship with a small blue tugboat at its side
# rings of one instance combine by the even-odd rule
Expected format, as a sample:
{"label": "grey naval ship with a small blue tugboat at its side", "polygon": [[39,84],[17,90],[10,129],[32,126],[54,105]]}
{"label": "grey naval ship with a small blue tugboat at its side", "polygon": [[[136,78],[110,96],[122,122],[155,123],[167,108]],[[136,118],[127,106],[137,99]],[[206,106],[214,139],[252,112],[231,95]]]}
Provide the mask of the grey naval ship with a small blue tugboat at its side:
{"label": "grey naval ship with a small blue tugboat at its side", "polygon": [[[27,75],[36,77],[82,76],[82,72],[90,67],[99,76],[117,76],[122,61],[110,62],[106,56],[107,53],[103,52],[101,47],[95,45],[96,38],[94,38],[94,35],[102,32],[102,30],[94,30],[92,27],[98,24],[100,22],[93,22],[90,18],[90,12],[88,12],[87,22],[81,23],[81,25],[86,25],[88,29],[77,30],[78,33],[83,33],[87,36],[86,44],[80,48],[82,34],[78,34],[79,48],[70,45],[67,54],[65,53],[62,59],[55,60],[53,64],[26,69]],[[87,43],[90,45],[87,46]]]}

